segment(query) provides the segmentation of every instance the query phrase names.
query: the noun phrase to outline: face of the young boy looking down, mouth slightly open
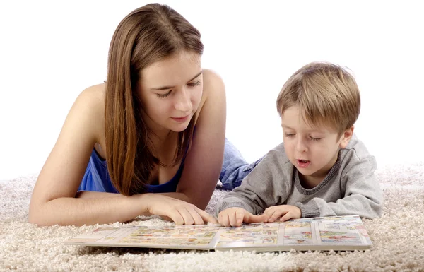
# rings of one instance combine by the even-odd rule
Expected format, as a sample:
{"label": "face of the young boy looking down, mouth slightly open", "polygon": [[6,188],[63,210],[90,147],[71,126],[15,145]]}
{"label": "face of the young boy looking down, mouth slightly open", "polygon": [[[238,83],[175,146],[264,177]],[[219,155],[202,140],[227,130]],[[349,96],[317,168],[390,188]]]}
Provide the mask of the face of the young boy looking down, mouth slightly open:
{"label": "face of the young boy looking down, mouth slightly open", "polygon": [[336,163],[339,148],[345,148],[353,134],[353,127],[338,137],[335,129],[308,126],[296,105],[281,114],[281,126],[285,152],[305,178],[324,179]]}

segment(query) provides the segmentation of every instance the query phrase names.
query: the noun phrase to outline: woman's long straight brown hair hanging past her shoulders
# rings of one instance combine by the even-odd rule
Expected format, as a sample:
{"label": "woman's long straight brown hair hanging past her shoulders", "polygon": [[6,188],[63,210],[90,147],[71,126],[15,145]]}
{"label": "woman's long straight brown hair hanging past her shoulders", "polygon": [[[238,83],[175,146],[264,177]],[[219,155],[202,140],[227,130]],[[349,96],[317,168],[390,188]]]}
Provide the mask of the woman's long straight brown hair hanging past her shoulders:
{"label": "woman's long straight brown hair hanging past her shoulders", "polygon": [[[105,138],[112,184],[126,196],[146,191],[155,165],[136,84],[143,68],[177,52],[203,53],[200,32],[172,8],[148,4],[129,13],[112,37],[107,62]],[[178,134],[174,163],[182,160],[194,119]]]}

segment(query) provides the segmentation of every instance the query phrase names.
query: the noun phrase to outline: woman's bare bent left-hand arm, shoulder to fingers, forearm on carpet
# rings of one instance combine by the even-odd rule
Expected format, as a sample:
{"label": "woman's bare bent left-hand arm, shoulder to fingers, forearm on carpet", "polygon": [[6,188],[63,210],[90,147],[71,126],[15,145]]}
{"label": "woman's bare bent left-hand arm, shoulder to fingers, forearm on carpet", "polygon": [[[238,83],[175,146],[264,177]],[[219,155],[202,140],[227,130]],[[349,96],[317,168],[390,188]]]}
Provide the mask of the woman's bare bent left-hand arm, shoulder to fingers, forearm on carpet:
{"label": "woman's bare bent left-hand arm, shoulder to fingers, forearm on carpet", "polygon": [[[37,225],[90,225],[125,222],[138,215],[171,218],[177,225],[216,220],[194,205],[160,194],[122,196],[79,192],[90,153],[104,134],[103,85],[84,90],[74,102],[57,143],[42,167],[30,202],[29,222]],[[76,198],[76,196],[79,196]]]}

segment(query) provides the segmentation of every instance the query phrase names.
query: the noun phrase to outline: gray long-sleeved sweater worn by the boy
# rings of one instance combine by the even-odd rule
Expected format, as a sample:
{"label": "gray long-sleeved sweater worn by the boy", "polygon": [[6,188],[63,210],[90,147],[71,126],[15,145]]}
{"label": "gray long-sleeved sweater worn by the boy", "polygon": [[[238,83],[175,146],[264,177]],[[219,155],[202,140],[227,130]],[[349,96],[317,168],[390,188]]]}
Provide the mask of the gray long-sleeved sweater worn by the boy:
{"label": "gray long-sleeved sweater worn by the boy", "polygon": [[217,205],[216,214],[225,208],[240,207],[261,214],[271,206],[293,205],[302,218],[332,215],[382,215],[383,196],[374,171],[375,158],[365,145],[351,138],[339,150],[338,158],[325,179],[312,189],[300,184],[298,170],[285,154],[283,143],[273,148]]}

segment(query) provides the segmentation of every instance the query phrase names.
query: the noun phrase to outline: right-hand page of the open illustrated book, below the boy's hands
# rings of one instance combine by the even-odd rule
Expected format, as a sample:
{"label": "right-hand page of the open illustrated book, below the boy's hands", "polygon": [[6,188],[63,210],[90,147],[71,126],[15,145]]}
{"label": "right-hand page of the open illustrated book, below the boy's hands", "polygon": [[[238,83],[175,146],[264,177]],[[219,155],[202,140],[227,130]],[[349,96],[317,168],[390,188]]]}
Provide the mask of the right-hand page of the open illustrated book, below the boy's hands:
{"label": "right-hand page of the open illustrated book, below the boy's hands", "polygon": [[372,242],[357,215],[300,218],[220,230],[216,250],[355,250]]}

